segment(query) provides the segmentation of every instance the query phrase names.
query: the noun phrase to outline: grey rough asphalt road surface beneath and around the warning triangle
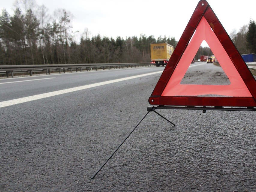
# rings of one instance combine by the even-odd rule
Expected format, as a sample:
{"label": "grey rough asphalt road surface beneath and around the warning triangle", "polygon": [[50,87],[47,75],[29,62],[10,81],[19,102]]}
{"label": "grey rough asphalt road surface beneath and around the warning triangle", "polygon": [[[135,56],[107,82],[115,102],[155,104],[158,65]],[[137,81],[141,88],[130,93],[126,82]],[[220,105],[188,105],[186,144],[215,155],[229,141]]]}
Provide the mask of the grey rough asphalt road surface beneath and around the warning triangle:
{"label": "grey rough asphalt road surface beneath and around the warning triangle", "polygon": [[[183,83],[228,83],[220,67],[194,65]],[[0,79],[0,107],[13,101],[0,108],[0,191],[256,191],[254,112],[158,110],[174,127],[149,113],[91,179],[146,114],[161,72],[97,83],[161,70]]]}

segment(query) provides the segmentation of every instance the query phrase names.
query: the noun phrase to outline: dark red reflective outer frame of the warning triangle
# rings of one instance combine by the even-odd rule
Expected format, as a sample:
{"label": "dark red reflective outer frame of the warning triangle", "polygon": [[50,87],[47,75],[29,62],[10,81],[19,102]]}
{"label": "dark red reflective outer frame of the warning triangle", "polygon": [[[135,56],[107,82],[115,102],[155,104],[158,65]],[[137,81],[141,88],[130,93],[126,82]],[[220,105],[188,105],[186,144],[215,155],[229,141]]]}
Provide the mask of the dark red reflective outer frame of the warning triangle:
{"label": "dark red reflective outer frame of the warning triangle", "polygon": [[[252,97],[161,96],[203,16],[236,67],[236,70],[250,91]],[[168,106],[256,107],[256,80],[206,0],[201,0],[197,4],[188,25],[182,33],[173,54],[149,97],[149,104]]]}

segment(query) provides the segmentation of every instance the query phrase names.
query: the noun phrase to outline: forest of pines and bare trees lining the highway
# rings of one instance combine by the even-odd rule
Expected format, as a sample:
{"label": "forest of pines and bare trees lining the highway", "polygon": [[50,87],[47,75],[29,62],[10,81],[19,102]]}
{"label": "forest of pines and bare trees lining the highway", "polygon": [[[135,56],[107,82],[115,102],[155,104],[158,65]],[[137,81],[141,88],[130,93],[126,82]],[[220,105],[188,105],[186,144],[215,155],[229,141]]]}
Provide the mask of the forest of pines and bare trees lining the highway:
{"label": "forest of pines and bare trees lining the highway", "polygon": [[[175,48],[178,41],[173,37],[155,38],[144,34],[125,39],[121,36],[115,39],[100,35],[90,37],[85,28],[77,42],[74,33],[72,14],[67,10],[58,9],[50,16],[44,5],[32,8],[21,4],[16,6],[13,15],[3,9],[0,65],[150,62],[150,44],[168,43]],[[238,32],[229,35],[240,54],[255,53],[254,20],[250,19]],[[209,47],[200,46],[196,60],[200,55],[212,55],[212,52]]]}

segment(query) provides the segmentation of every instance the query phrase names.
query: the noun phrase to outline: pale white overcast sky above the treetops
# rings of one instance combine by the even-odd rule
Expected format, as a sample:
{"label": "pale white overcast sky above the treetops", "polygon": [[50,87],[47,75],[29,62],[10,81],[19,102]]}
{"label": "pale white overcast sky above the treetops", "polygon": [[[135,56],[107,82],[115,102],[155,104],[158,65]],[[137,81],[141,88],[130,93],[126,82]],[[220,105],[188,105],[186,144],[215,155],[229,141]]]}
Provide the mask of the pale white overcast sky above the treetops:
{"label": "pale white overcast sky above the treetops", "polygon": [[[44,4],[53,16],[56,9],[70,11],[74,18],[73,31],[82,33],[88,28],[90,36],[126,37],[145,34],[174,37],[179,41],[198,0],[35,0]],[[12,16],[14,0],[1,0],[0,9],[5,8]],[[208,0],[209,5],[230,34],[256,21],[256,1]]]}

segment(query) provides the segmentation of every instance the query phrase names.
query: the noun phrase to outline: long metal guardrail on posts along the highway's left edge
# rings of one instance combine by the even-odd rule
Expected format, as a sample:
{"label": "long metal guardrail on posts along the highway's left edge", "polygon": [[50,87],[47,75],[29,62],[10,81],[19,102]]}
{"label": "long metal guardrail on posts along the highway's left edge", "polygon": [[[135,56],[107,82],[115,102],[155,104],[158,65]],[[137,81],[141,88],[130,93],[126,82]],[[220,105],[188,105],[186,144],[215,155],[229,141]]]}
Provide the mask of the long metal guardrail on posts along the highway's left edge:
{"label": "long metal guardrail on posts along the highway's left edge", "polygon": [[120,68],[129,68],[129,67],[146,67],[151,66],[151,63],[97,63],[97,64],[49,64],[49,65],[0,65],[0,74],[5,74],[8,78],[11,74],[14,77],[14,74],[17,73],[28,73],[30,76],[33,73],[46,73],[51,74],[53,71],[59,71],[59,73],[66,71],[76,71],[78,70],[105,70],[105,69],[120,69]]}

